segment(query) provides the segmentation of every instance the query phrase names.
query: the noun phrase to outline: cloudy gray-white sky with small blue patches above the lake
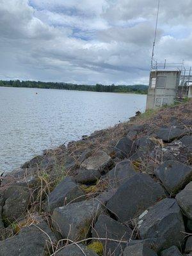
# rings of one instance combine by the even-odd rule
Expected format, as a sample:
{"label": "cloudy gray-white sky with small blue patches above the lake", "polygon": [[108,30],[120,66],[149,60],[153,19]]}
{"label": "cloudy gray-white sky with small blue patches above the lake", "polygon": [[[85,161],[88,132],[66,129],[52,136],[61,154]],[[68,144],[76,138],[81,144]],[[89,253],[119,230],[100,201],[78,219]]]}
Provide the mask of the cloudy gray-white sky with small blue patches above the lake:
{"label": "cloudy gray-white sky with small blue patches above the lake", "polygon": [[[157,0],[0,0],[0,79],[148,83]],[[161,0],[157,60],[192,65],[192,0]]]}

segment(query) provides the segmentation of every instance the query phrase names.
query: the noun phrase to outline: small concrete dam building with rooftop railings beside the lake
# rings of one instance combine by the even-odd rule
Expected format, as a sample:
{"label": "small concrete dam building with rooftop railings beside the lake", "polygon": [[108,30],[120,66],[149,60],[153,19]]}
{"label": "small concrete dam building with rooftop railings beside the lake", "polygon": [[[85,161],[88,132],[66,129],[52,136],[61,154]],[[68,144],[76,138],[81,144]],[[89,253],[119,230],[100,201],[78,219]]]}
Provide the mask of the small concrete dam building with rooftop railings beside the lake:
{"label": "small concrete dam building with rooftop railings beside the lake", "polygon": [[192,70],[184,63],[153,65],[150,71],[146,110],[192,97]]}

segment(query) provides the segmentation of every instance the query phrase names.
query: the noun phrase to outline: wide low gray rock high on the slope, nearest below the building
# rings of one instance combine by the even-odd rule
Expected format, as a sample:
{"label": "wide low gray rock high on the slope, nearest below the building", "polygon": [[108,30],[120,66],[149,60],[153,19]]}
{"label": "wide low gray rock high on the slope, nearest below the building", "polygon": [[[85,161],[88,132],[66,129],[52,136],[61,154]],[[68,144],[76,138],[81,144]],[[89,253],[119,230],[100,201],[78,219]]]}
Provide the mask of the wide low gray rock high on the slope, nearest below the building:
{"label": "wide low gray rock high on the slope, nearest below the building", "polygon": [[178,128],[173,128],[173,127],[159,128],[155,132],[157,138],[159,138],[165,142],[170,142],[172,140],[180,138],[180,137],[186,135],[187,133],[188,133],[188,131],[186,131],[184,129],[178,129]]}

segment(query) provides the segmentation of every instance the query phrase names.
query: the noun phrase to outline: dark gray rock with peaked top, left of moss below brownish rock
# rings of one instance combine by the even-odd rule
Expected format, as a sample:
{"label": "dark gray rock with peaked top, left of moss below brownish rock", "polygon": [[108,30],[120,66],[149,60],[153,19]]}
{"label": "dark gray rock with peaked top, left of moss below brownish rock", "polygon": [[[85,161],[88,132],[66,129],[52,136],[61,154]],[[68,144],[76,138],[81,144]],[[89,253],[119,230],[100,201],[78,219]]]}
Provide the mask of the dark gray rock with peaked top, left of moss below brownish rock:
{"label": "dark gray rock with peaked top, left of moss below brownish rock", "polygon": [[84,199],[85,196],[81,188],[72,181],[72,178],[65,177],[49,194],[46,208],[47,211],[53,211],[56,207]]}

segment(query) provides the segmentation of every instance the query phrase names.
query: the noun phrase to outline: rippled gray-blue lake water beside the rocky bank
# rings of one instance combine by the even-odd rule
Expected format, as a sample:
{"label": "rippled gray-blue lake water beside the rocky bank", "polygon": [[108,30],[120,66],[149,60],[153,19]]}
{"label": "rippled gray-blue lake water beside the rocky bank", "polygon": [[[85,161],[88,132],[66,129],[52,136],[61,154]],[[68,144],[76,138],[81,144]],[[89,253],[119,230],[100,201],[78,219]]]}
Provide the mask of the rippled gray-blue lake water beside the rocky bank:
{"label": "rippled gray-blue lake water beside the rocky bank", "polygon": [[124,122],[145,102],[146,95],[0,87],[0,171]]}

